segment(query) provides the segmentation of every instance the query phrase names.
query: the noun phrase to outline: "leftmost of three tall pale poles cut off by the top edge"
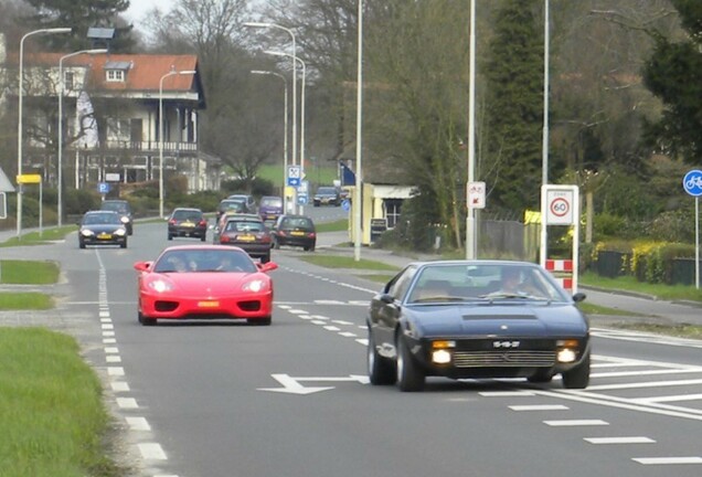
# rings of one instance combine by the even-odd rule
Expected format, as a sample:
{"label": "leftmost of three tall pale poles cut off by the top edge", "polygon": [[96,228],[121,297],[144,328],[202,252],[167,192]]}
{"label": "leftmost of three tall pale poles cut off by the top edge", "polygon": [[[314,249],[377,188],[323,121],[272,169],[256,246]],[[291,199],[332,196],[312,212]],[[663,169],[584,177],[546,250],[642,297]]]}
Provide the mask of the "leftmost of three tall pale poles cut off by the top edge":
{"label": "leftmost of three tall pale poles cut off by the top edge", "polygon": [[355,81],[355,198],[353,204],[353,259],[361,259],[361,208],[363,206],[362,118],[363,118],[363,0],[359,0],[359,31]]}

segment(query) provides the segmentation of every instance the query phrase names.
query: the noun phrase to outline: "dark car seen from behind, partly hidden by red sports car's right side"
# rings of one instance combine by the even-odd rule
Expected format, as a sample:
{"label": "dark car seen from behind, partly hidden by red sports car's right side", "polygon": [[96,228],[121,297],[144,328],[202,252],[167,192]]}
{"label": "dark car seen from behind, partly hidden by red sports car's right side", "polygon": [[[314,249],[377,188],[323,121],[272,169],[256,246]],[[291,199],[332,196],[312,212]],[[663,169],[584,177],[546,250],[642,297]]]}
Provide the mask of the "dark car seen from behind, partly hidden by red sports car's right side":
{"label": "dark car seen from behind, partly hidden by red sports car's right side", "polygon": [[262,263],[270,261],[270,233],[258,215],[234,214],[226,219],[217,235],[221,245],[234,245]]}

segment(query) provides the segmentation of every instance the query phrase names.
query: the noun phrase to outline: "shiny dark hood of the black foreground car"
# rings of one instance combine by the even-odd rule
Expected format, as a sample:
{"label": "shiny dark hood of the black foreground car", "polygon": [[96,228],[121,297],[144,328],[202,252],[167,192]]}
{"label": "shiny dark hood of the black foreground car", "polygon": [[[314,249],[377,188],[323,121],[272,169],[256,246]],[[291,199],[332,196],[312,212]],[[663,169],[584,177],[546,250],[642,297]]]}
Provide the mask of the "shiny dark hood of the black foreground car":
{"label": "shiny dark hood of the black foreground car", "polygon": [[585,316],[568,304],[424,305],[406,307],[405,316],[423,337],[585,336],[588,330]]}

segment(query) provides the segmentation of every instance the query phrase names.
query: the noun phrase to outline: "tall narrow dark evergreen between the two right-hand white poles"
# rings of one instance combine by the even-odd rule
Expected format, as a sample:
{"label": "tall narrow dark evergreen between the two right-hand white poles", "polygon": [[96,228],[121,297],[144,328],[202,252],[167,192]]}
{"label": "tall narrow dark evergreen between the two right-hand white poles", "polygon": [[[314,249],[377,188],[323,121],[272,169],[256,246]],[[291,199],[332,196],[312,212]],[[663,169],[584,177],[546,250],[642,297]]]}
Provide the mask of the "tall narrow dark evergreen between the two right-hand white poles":
{"label": "tall narrow dark evergreen between the two right-hand white poles", "polygon": [[488,145],[481,178],[489,203],[513,211],[539,204],[543,126],[543,35],[538,0],[506,0],[497,11],[485,67]]}

